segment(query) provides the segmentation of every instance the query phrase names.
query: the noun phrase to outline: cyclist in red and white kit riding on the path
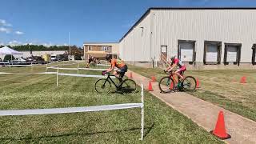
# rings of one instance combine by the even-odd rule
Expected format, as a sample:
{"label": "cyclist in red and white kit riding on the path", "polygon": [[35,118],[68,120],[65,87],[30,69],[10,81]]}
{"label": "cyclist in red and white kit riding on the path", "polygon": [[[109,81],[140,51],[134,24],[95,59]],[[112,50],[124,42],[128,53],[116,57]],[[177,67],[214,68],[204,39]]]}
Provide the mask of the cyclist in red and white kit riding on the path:
{"label": "cyclist in red and white kit riding on the path", "polygon": [[177,74],[178,77],[183,80],[184,77],[182,76],[182,72],[186,70],[186,66],[183,64],[183,62],[178,58],[176,58],[175,56],[172,56],[170,58],[169,63],[170,63],[170,66],[165,71],[173,70],[175,66],[178,66],[178,70],[175,71],[175,74]]}

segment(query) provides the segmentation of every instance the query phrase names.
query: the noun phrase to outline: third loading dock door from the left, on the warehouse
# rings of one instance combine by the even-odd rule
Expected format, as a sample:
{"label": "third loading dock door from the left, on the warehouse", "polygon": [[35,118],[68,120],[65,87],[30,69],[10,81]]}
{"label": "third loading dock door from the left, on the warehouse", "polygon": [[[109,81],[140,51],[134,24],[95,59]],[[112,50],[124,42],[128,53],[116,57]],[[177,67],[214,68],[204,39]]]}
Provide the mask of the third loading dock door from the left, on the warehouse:
{"label": "third loading dock door from the left, on the warehouse", "polygon": [[224,51],[224,64],[225,65],[238,65],[241,56],[241,43],[225,43]]}

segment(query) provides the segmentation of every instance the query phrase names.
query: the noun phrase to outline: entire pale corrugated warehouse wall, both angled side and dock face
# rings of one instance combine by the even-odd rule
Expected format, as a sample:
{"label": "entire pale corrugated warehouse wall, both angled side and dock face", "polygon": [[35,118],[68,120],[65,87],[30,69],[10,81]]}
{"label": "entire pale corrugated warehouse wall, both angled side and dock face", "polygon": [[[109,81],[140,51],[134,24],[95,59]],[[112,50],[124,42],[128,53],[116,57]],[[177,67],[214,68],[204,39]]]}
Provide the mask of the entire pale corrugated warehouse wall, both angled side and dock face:
{"label": "entire pale corrugated warehouse wall, both angled side and dock face", "polygon": [[122,39],[120,55],[126,61],[150,62],[160,59],[161,46],[167,46],[168,56],[177,55],[178,40],[192,40],[196,41],[196,62],[202,62],[204,41],[219,41],[222,62],[224,42],[242,43],[241,62],[251,62],[255,31],[256,10],[150,10]]}

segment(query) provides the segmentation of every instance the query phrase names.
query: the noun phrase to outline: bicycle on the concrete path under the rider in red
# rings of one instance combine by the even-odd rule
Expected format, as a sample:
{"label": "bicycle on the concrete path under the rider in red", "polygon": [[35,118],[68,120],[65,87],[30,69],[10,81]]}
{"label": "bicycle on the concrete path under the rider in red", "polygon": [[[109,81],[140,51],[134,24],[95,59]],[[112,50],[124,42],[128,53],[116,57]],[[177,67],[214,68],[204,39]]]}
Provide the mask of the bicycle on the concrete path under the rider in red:
{"label": "bicycle on the concrete path under the rider in red", "polygon": [[[184,80],[179,80],[177,74],[173,73],[172,70],[170,72],[166,72],[169,76],[161,78],[158,83],[159,89],[161,93],[169,93],[171,91],[194,91],[196,88],[196,80],[192,76],[186,76]],[[184,72],[182,72],[182,75]],[[176,79],[174,76],[177,76]],[[176,85],[175,85],[176,83]]]}

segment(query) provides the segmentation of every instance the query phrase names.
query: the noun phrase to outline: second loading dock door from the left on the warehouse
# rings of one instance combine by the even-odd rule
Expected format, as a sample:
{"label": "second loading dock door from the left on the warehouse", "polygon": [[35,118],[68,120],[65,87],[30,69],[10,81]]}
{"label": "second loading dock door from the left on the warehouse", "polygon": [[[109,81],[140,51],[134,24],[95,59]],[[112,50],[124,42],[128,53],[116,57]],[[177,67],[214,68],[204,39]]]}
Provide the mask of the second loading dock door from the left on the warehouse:
{"label": "second loading dock door from the left on the warehouse", "polygon": [[205,41],[203,62],[205,65],[221,63],[222,42]]}

